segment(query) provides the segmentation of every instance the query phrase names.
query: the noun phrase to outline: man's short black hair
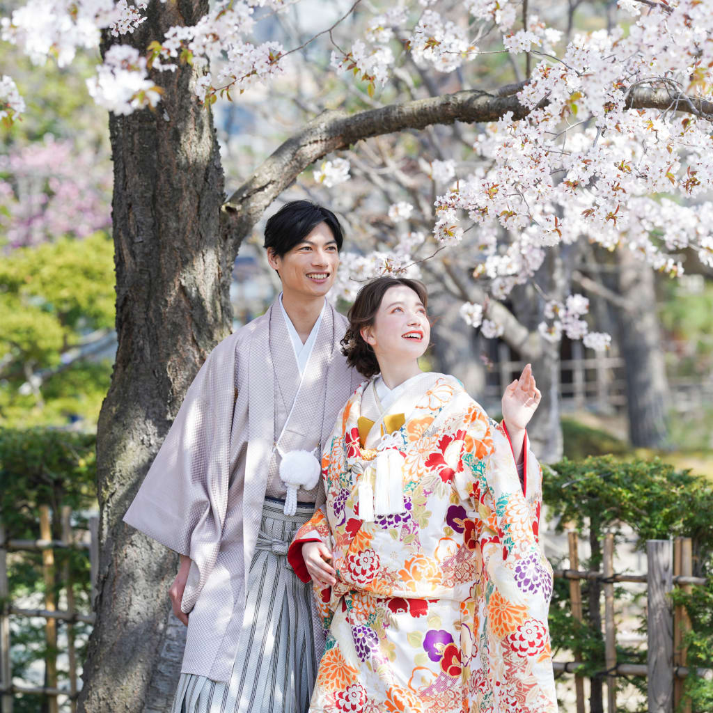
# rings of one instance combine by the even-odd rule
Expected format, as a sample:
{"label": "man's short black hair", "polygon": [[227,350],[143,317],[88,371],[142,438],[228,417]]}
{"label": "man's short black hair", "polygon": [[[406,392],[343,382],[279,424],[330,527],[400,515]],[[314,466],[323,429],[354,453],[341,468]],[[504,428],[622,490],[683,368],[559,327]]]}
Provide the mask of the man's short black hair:
{"label": "man's short black hair", "polygon": [[265,225],[263,247],[271,247],[277,257],[282,257],[309,235],[312,230],[324,222],[334,235],[337,250],[342,250],[342,226],[334,213],[323,205],[311,200],[293,200],[285,203],[270,217]]}

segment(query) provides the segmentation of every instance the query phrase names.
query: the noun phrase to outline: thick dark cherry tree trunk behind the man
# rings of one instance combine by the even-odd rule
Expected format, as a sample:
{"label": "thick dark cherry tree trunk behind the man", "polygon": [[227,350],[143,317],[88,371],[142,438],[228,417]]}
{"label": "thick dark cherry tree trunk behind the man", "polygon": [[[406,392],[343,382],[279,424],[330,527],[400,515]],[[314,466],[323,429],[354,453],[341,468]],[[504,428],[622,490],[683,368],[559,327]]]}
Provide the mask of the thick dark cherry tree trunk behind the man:
{"label": "thick dark cherry tree trunk behind the man", "polygon": [[[151,3],[148,20],[121,41],[143,52],[207,7]],[[167,632],[183,636],[168,625],[177,557],[121,518],[190,381],[232,321],[235,252],[221,236],[222,168],[212,116],[192,91],[196,78],[190,66],[157,74],[164,93],[156,111],[110,118],[118,352],[97,433],[99,594],[79,699],[91,713],[150,709],[152,686],[170,688],[180,665],[179,641],[173,668],[154,677],[161,653],[172,652]]]}

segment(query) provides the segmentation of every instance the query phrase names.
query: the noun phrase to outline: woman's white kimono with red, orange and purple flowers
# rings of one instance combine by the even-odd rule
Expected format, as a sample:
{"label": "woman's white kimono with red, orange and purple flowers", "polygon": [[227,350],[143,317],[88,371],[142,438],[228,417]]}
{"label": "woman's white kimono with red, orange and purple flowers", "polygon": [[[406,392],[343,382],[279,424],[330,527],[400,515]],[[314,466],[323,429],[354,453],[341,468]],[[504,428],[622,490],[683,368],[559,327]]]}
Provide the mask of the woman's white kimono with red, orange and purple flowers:
{"label": "woman's white kimono with red, orange and purple flowers", "polygon": [[[369,385],[357,389],[322,461],[327,503],[290,548],[305,581],[305,541],[326,543],[337,570],[334,587],[315,587],[329,631],[310,711],[555,712],[539,503],[523,493],[503,428],[452,376],[429,376],[391,405],[404,425],[372,429],[364,446]],[[358,465],[388,448],[403,458],[404,507],[362,519]]]}

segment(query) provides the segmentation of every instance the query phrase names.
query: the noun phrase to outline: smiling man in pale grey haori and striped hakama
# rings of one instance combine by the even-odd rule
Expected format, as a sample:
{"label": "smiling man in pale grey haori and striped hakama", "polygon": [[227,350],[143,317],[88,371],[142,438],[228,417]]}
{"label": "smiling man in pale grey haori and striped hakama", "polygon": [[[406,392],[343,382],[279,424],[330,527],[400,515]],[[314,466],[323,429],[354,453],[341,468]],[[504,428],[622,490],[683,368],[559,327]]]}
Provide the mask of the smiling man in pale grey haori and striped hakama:
{"label": "smiling man in pale grey haori and striped hakama", "polygon": [[286,555],[324,492],[303,481],[286,514],[292,474],[279,466],[296,451],[319,457],[362,381],[340,350],[347,320],[325,299],[342,240],[334,213],[305,200],[267,221],[282,294],[210,353],[125,515],[180,554],[170,597],[188,635],[175,713],[309,707],[323,633]]}

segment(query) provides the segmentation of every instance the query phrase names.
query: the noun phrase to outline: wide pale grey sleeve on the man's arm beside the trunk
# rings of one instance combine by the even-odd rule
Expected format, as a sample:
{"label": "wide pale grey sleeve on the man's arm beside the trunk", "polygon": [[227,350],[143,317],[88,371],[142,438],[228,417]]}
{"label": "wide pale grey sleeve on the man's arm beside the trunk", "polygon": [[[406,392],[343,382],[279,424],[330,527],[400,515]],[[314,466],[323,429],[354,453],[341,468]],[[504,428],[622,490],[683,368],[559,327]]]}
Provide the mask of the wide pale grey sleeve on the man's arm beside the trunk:
{"label": "wide pale grey sleeve on the man's arm beside the trunk", "polygon": [[[227,341],[227,340],[226,340]],[[124,522],[192,560],[181,609],[193,609],[215,565],[227,509],[235,355],[222,343],[186,392]]]}

